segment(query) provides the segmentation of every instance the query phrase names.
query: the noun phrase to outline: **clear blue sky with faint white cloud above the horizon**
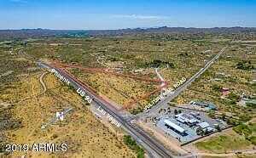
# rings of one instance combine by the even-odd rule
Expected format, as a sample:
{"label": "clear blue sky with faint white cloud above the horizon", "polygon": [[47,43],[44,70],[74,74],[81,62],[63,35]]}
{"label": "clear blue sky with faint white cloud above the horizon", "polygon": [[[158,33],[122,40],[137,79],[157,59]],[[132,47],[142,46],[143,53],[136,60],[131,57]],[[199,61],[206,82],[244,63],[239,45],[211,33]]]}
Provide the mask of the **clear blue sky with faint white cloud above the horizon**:
{"label": "clear blue sky with faint white cloud above the horizon", "polygon": [[256,0],[0,0],[0,29],[256,27]]}

